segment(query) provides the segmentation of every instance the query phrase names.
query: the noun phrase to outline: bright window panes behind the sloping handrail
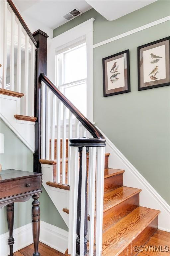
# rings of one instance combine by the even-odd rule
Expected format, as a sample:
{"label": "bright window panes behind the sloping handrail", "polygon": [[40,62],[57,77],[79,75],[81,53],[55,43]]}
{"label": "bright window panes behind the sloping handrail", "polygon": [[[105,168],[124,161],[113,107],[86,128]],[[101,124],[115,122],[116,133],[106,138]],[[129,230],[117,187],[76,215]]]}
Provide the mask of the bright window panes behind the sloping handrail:
{"label": "bright window panes behind the sloping handrail", "polygon": [[56,54],[56,83],[62,93],[87,116],[86,43]]}

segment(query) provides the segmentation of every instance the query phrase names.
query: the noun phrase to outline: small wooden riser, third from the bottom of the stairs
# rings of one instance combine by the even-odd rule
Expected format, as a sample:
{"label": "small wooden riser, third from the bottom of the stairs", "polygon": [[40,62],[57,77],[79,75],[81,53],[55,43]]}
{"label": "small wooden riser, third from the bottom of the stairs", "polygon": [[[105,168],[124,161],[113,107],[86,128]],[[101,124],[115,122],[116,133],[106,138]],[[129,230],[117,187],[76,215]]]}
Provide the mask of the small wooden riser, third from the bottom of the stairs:
{"label": "small wooden riser, third from the bottom of the stairs", "polygon": [[123,174],[108,177],[104,181],[104,193],[123,186]]}

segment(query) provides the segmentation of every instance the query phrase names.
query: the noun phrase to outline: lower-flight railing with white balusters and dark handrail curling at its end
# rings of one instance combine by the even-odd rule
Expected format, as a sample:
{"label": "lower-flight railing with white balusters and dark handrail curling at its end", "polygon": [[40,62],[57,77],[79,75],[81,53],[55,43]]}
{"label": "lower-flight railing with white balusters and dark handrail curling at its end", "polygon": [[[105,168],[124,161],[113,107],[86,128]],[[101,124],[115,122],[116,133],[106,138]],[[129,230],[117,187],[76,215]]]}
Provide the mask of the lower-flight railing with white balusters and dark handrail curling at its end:
{"label": "lower-flight railing with white balusters and dark handrail curling at its end", "polygon": [[[83,256],[87,254],[88,250],[90,256],[93,255],[94,251],[95,255],[100,256],[102,250],[106,140],[97,128],[56,88],[45,74],[41,73],[40,79],[43,82],[42,158],[49,161],[52,160],[53,162],[56,160],[56,172],[53,171],[52,181],[70,185],[68,254],[71,256]],[[46,86],[45,106],[43,103],[45,102]],[[76,126],[74,133],[73,120],[75,120]],[[62,152],[60,152],[61,121]],[[56,126],[55,123],[57,124]],[[80,124],[84,128],[81,135],[84,136],[85,133],[89,133],[91,138],[80,138]],[[65,164],[67,134],[70,143],[68,147],[68,166]],[[55,135],[57,138],[56,145]],[[62,165],[60,164],[61,157]],[[89,247],[87,246],[88,214],[90,215]]]}

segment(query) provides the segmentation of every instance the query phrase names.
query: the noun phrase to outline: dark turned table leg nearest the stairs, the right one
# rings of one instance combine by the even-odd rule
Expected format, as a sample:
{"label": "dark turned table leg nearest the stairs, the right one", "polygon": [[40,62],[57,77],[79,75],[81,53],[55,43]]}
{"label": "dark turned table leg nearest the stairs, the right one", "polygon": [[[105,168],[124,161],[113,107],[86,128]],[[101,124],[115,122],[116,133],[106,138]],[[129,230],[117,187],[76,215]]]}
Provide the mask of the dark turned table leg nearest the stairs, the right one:
{"label": "dark turned table leg nearest the stairs, the right one", "polygon": [[32,230],[33,230],[33,241],[35,253],[33,256],[39,256],[39,237],[40,237],[40,194],[32,196],[34,201],[32,202]]}

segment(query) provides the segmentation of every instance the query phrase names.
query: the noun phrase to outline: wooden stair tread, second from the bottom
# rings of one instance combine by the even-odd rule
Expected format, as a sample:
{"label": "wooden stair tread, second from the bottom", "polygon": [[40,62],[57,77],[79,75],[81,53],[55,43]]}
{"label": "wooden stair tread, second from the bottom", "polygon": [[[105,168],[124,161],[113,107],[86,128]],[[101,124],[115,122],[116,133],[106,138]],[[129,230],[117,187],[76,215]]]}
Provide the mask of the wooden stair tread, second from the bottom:
{"label": "wooden stair tread, second from the bottom", "polygon": [[104,212],[122,203],[123,201],[127,200],[129,197],[140,193],[140,191],[141,189],[122,186],[112,191],[104,193],[104,199],[103,199]]}

